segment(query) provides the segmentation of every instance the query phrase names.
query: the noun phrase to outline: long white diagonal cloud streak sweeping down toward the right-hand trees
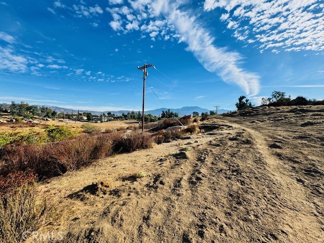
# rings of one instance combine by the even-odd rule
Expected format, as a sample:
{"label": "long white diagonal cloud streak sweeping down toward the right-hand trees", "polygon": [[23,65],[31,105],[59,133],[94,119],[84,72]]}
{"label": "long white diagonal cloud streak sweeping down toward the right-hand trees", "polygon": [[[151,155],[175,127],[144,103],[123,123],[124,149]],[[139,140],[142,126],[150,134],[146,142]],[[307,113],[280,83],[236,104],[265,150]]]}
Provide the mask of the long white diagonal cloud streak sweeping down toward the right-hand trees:
{"label": "long white diagonal cloud streak sweeping down toward the right-hand trees", "polygon": [[[180,10],[181,6],[175,1],[134,0],[129,3],[133,8],[130,11],[137,16],[139,22],[150,18],[149,23],[143,23],[140,30],[149,33],[152,41],[160,36],[165,40],[178,39],[179,43],[188,45],[186,50],[192,52],[207,70],[218,74],[226,83],[237,84],[247,95],[256,95],[259,92],[259,76],[239,66],[243,57],[226,48],[217,47],[209,31],[194,16]],[[133,30],[123,27],[126,20],[120,17],[125,15],[120,8],[108,8],[107,11],[112,14],[114,20],[110,22],[110,26],[115,31],[123,30],[127,33]],[[228,16],[223,16],[223,19],[225,17]],[[232,22],[230,27],[237,27],[238,23]]]}

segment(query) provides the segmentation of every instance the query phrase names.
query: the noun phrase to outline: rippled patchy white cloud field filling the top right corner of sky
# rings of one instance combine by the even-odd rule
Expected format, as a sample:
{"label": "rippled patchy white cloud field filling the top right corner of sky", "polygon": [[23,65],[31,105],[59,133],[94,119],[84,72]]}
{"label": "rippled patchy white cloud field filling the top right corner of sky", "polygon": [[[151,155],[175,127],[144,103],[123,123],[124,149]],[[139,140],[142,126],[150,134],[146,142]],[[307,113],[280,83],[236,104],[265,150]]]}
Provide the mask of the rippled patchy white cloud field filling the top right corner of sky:
{"label": "rippled patchy white cloud field filling the top right corner of sky", "polygon": [[[221,21],[239,41],[259,42],[261,52],[324,50],[322,0],[206,0],[204,9],[224,9]],[[247,25],[247,21],[249,24]]]}

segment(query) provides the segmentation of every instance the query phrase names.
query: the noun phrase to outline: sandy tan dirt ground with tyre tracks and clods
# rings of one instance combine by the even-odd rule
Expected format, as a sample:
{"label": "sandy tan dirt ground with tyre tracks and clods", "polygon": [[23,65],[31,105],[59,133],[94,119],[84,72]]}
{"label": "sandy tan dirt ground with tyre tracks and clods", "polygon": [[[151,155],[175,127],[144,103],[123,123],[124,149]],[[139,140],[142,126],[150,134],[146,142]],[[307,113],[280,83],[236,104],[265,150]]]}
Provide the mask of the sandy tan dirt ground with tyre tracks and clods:
{"label": "sandy tan dirt ground with tyre tracks and clods", "polygon": [[59,218],[41,230],[63,242],[324,242],[323,106],[246,110],[200,128],[43,182]]}

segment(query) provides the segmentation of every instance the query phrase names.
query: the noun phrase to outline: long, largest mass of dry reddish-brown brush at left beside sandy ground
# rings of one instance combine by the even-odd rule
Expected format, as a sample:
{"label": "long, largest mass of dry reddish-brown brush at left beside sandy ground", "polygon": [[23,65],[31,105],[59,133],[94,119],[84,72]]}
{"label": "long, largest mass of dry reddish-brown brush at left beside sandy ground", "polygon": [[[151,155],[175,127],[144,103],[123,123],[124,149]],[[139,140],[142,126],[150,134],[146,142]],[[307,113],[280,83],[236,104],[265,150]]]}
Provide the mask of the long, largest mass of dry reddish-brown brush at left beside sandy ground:
{"label": "long, largest mass of dry reddish-brown brush at left beside sandy ground", "polygon": [[91,163],[93,159],[111,155],[115,140],[123,133],[104,134],[101,136],[80,137],[73,140],[46,145],[7,145],[0,158],[0,175],[10,172],[25,171],[28,168],[40,179],[64,174]]}

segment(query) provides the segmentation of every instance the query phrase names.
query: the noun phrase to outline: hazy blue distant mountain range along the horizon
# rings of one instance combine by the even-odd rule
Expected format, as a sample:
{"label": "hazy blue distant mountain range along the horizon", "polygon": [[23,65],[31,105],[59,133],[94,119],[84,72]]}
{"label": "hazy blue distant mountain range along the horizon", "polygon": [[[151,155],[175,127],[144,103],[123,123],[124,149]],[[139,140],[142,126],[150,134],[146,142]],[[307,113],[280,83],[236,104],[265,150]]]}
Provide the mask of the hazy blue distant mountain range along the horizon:
{"label": "hazy blue distant mountain range along the horizon", "polygon": [[[72,109],[66,109],[66,108],[62,108],[62,107],[57,107],[57,106],[49,106],[51,109],[55,110],[56,112],[60,113],[60,112],[65,112],[65,113],[71,113]],[[152,114],[152,115],[160,115],[162,113],[163,110],[168,110],[168,108],[158,108],[155,110],[147,110],[145,111],[146,114]],[[170,108],[171,111],[173,112],[178,112],[179,116],[184,116],[184,115],[192,115],[192,112],[196,111],[199,113],[199,115],[201,114],[201,112],[210,112],[209,109],[205,109],[205,108],[201,108],[198,106],[184,106],[182,108]],[[135,110],[134,110],[135,111]],[[216,111],[216,110],[214,110]],[[226,113],[229,110],[226,109],[218,109],[218,114],[221,113]],[[95,115],[101,115],[102,113],[107,113],[107,112],[111,112],[114,113],[116,115],[121,115],[122,113],[128,113],[128,112],[132,112],[132,110],[118,110],[118,111],[93,111],[93,110],[79,110],[79,112],[91,112],[92,114]],[[138,110],[136,110],[135,112],[138,112]],[[142,112],[142,111],[141,111]],[[73,110],[73,113],[77,113],[77,110]]]}

